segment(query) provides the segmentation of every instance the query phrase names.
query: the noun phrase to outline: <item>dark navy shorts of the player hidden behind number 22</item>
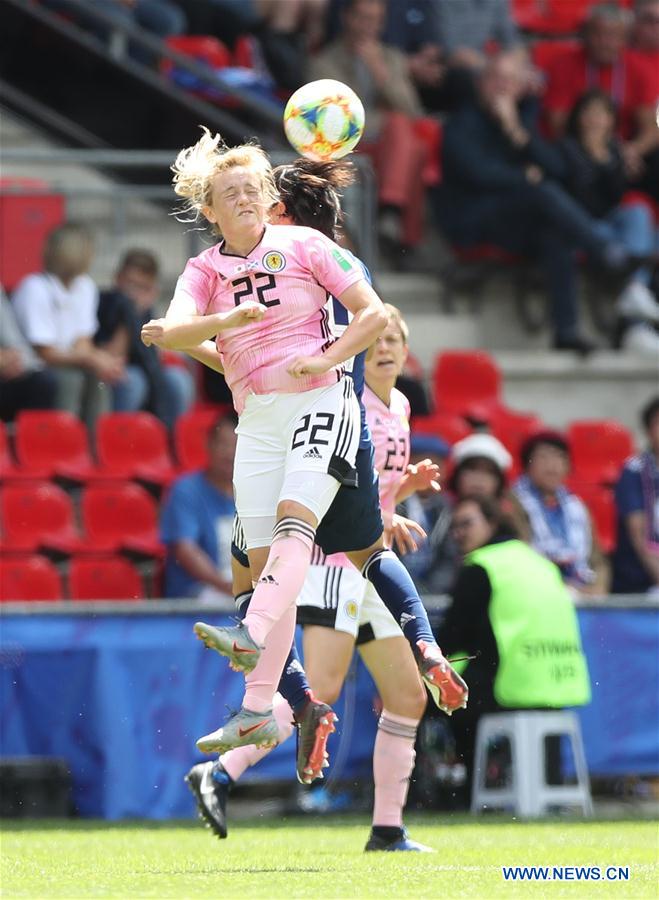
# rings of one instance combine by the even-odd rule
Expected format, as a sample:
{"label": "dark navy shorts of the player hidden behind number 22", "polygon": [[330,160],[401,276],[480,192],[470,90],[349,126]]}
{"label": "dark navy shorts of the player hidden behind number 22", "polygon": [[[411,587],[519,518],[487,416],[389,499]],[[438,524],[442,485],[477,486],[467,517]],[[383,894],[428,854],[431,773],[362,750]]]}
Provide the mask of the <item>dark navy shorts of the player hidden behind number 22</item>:
{"label": "dark navy shorts of the player hidden behind number 22", "polygon": [[[327,556],[350,550],[366,550],[379,539],[384,530],[372,446],[357,451],[355,469],[358,486],[352,488],[342,485],[339,488],[316,531],[316,544]],[[231,553],[242,566],[249,566],[238,519],[234,522]]]}

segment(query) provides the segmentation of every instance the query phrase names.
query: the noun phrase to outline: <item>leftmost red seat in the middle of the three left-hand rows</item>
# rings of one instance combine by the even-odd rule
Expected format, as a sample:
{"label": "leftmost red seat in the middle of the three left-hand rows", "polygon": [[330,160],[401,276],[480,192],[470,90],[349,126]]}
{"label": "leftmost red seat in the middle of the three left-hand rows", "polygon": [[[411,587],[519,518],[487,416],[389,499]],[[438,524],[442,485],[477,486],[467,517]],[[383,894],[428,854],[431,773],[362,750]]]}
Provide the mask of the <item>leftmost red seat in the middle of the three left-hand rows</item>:
{"label": "leftmost red seat in the middle of the three left-hand rows", "polygon": [[45,481],[6,485],[0,492],[5,552],[48,548],[64,555],[84,549],[71,498]]}

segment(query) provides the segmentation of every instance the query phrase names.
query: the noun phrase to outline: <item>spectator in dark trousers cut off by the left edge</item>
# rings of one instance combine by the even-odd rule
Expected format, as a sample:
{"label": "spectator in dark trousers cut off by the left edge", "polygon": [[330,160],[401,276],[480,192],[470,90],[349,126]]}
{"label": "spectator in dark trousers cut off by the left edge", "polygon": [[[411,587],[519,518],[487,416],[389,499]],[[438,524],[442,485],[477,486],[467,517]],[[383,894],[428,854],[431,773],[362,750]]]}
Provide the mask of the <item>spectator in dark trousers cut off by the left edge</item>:
{"label": "spectator in dark trousers cut off by the left edge", "polygon": [[25,340],[11,303],[0,288],[0,419],[22,409],[52,409],[57,381]]}

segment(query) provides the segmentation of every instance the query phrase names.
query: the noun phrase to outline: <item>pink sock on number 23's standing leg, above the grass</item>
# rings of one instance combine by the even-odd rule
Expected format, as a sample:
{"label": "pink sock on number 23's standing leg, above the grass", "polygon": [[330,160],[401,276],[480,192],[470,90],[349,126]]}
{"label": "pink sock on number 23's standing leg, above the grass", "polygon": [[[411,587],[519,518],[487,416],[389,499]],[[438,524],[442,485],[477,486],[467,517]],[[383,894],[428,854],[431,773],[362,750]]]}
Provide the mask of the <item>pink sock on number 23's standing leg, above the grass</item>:
{"label": "pink sock on number 23's standing leg, above the grass", "polygon": [[414,768],[418,724],[418,719],[408,719],[382,710],[373,750],[373,825],[398,828],[403,825],[403,807]]}

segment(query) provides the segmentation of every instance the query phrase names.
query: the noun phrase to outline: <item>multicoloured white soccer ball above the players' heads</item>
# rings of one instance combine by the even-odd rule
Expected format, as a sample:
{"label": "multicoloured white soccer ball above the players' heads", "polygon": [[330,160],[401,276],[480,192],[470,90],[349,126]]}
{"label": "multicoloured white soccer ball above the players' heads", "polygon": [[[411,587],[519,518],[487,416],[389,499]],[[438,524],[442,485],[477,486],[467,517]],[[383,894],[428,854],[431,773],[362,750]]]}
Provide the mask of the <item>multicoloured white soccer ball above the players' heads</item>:
{"label": "multicoloured white soccer ball above the players' heads", "polygon": [[354,150],[364,131],[364,107],[347,84],[323,78],[302,85],[284,110],[284,131],[308,159],[340,159]]}

